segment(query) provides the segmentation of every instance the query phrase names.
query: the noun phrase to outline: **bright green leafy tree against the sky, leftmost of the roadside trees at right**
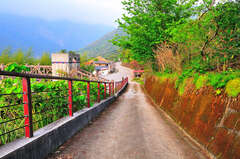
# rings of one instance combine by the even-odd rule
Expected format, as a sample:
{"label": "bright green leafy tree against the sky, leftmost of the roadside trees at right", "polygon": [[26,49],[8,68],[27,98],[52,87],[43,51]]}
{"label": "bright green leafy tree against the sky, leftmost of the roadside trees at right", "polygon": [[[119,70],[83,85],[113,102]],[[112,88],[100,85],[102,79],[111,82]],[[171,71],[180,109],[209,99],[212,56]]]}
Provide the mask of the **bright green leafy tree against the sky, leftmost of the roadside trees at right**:
{"label": "bright green leafy tree against the sky, leftmost of the roadside trees at right", "polygon": [[155,61],[154,47],[169,42],[169,29],[192,16],[191,8],[195,1],[177,0],[125,0],[127,12],[117,22],[128,34],[116,37],[113,44],[133,52],[139,62]]}

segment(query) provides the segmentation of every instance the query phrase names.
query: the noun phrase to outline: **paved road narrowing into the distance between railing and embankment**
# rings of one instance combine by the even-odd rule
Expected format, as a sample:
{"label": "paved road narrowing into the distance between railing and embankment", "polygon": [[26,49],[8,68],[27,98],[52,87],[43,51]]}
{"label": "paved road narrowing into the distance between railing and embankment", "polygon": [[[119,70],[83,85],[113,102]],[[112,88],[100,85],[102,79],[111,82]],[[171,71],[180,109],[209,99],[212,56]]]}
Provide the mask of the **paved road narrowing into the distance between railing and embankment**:
{"label": "paved road narrowing into the distance between railing and embankment", "polygon": [[[121,77],[121,73],[129,75],[130,70],[121,68],[116,76]],[[126,93],[49,157],[53,158],[206,159],[171,120],[150,104],[137,83],[130,83]]]}

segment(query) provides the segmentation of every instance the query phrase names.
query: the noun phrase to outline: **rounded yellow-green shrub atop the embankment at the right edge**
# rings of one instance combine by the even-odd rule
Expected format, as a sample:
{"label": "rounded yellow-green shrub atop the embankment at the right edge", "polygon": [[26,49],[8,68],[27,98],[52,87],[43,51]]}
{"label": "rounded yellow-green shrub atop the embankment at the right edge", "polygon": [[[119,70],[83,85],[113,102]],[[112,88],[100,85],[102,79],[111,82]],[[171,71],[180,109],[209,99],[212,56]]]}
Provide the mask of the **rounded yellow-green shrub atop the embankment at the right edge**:
{"label": "rounded yellow-green shrub atop the embankment at the right edge", "polygon": [[226,85],[226,93],[229,96],[237,97],[240,93],[240,78],[230,80]]}

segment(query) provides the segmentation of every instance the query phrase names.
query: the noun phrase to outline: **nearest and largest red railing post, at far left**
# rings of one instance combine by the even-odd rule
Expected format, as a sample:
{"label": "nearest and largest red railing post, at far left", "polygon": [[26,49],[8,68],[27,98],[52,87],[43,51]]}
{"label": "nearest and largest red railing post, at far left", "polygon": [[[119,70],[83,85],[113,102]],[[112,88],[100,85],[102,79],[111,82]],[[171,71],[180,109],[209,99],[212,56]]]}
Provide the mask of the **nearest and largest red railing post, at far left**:
{"label": "nearest and largest red railing post, at far left", "polygon": [[30,78],[22,78],[23,86],[23,103],[24,103],[24,119],[25,119],[25,137],[33,137],[32,125],[32,96]]}

